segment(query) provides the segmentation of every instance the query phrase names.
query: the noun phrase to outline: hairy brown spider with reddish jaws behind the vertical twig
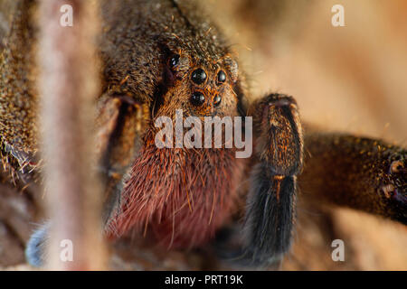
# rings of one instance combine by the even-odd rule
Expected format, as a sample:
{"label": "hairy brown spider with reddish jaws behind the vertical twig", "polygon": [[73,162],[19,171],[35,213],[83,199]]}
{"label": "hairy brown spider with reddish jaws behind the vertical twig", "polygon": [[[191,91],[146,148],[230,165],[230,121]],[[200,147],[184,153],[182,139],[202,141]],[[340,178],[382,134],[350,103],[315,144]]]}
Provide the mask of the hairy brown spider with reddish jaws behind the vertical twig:
{"label": "hairy brown spider with reddish jaws behind the vertical twig", "polygon": [[[240,266],[277,266],[289,251],[300,190],[407,223],[405,149],[311,126],[303,133],[298,104],[287,95],[249,102],[237,57],[191,1],[99,2],[103,93],[95,122],[108,238],[135,230],[163,247],[212,243],[219,256]],[[30,25],[14,25],[11,39],[32,44],[27,33],[18,33]],[[36,96],[24,82],[29,72],[24,58],[15,57],[17,46],[2,54],[2,149],[17,169],[35,170],[37,128],[27,108]],[[10,63],[23,69],[9,70]],[[224,145],[158,148],[156,119],[175,120],[179,109],[184,118],[202,121],[252,117],[252,127],[243,126],[241,135],[252,129],[253,154],[236,158],[237,148]],[[34,266],[43,264],[50,226],[38,229],[27,245]]]}

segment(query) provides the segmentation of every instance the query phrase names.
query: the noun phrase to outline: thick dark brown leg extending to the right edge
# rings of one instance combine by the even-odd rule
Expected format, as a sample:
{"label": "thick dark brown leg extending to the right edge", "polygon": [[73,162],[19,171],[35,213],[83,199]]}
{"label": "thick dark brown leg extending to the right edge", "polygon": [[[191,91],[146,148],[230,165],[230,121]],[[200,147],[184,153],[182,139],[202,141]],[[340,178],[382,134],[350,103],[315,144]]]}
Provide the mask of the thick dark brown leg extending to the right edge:
{"label": "thick dark brown leg extending to the right edge", "polygon": [[[305,135],[303,197],[407,224],[407,150],[355,135]],[[301,196],[302,197],[302,196]]]}

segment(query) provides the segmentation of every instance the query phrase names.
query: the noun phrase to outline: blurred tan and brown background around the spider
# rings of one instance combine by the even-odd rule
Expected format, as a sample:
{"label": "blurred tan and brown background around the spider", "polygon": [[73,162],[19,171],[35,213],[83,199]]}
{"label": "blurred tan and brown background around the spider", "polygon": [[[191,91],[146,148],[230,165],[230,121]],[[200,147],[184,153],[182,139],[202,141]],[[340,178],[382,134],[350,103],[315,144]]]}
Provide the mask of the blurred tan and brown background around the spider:
{"label": "blurred tan and brown background around the spider", "polygon": [[[345,27],[331,24],[336,4],[345,7]],[[298,100],[307,122],[405,146],[406,1],[210,0],[207,6],[239,52],[251,98],[284,92]],[[14,266],[24,264],[27,230],[36,220],[32,202],[20,194],[3,204],[13,213],[0,208],[0,266],[28,268]],[[331,259],[336,238],[345,242],[345,262]],[[300,200],[295,240],[282,269],[407,270],[407,228],[354,210]],[[198,253],[153,254],[127,240],[115,249],[117,269],[224,268]]]}

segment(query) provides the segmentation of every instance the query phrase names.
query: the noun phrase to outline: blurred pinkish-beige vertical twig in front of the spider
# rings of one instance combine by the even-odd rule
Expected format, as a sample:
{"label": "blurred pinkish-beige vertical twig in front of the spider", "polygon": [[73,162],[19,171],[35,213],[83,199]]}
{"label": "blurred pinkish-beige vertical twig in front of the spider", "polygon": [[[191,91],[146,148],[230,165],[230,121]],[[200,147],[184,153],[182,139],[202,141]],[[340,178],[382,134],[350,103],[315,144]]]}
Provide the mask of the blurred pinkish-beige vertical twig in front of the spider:
{"label": "blurred pinkish-beige vertical twig in front of the spider", "polygon": [[[73,8],[73,26],[60,23],[62,5]],[[52,219],[49,267],[103,269],[101,191],[91,133],[99,93],[94,47],[97,7],[88,0],[41,0],[39,12],[43,158]],[[62,256],[69,242],[73,261]]]}

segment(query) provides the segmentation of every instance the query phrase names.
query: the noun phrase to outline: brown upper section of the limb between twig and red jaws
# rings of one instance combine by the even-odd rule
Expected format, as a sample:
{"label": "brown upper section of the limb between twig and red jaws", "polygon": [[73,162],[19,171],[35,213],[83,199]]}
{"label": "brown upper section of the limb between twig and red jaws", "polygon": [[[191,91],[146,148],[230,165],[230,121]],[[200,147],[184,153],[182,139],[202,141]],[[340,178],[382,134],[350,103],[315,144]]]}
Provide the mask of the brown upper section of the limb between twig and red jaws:
{"label": "brown upper section of the limb between twig and red jaws", "polygon": [[142,145],[147,113],[142,102],[127,96],[102,97],[99,106],[97,149],[105,191],[103,221],[109,231],[108,221],[119,213],[120,191]]}

